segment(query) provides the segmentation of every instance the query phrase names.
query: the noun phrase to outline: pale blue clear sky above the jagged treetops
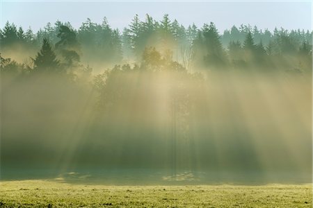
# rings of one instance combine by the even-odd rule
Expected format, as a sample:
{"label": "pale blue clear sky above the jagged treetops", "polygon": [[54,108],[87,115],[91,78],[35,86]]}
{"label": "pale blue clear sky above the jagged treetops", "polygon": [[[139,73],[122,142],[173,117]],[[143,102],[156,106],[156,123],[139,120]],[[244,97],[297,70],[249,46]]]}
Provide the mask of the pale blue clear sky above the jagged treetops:
{"label": "pale blue clear sky above the jagged treetops", "polygon": [[113,28],[128,26],[135,14],[141,20],[148,13],[161,20],[164,14],[188,26],[201,27],[213,21],[223,32],[233,25],[250,24],[258,28],[275,27],[312,31],[311,1],[13,1],[0,0],[0,26],[6,21],[33,31],[43,28],[47,22],[70,21],[79,28],[83,21],[101,23],[107,17]]}

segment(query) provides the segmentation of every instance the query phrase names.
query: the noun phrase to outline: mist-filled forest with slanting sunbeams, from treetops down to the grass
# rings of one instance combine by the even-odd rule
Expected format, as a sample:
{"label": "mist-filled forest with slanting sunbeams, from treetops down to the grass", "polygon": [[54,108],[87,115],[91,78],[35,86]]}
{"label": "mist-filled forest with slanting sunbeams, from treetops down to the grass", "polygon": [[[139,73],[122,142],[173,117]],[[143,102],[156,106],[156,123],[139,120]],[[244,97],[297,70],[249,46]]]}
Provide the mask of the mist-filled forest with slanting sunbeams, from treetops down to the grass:
{"label": "mist-filled forest with slanting sunbeams, from treetops down to the grass", "polygon": [[135,15],[0,44],[1,180],[312,181],[312,31]]}

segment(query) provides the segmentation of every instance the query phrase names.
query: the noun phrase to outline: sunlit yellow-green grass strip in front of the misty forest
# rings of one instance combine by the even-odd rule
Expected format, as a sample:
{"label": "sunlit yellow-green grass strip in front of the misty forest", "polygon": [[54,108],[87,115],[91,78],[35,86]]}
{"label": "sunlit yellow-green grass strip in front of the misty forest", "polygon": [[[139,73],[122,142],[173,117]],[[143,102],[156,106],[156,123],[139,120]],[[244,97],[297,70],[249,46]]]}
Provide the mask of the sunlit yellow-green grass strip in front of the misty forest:
{"label": "sunlit yellow-green grass strip in front of the misty forest", "polygon": [[312,207],[312,184],[103,186],[0,182],[0,207]]}

